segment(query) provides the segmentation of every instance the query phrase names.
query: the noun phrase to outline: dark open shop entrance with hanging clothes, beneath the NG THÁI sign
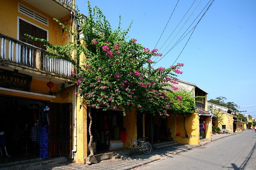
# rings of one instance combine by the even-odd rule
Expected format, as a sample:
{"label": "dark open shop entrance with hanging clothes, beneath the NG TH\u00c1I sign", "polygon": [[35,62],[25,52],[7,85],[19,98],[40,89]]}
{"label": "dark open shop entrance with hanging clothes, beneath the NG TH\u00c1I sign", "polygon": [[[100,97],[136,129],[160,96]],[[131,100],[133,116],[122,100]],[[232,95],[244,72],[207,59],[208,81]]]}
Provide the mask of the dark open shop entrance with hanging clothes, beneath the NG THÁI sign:
{"label": "dark open shop entrance with hanging clothes, beneath the NG TH\u00c1I sign", "polygon": [[[0,132],[5,132],[11,155],[7,157],[2,147],[1,163],[39,158],[42,153],[41,158],[69,157],[70,120],[71,103],[0,95]],[[40,140],[42,134],[45,143]]]}

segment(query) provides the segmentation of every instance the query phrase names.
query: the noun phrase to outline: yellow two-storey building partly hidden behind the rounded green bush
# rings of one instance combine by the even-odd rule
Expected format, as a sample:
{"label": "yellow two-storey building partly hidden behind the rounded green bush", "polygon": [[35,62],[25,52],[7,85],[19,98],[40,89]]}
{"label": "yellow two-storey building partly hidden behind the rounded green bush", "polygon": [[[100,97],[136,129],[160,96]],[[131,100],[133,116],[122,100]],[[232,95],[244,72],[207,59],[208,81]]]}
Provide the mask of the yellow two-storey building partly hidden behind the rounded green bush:
{"label": "yellow two-storey building partly hidden behind the rounded green bush", "polygon": [[178,89],[191,91],[193,96],[203,96],[203,98],[196,98],[198,102],[195,102],[195,113],[185,117],[185,127],[189,138],[185,136],[184,118],[180,115],[169,116],[166,128],[170,129],[172,137],[178,143],[198,145],[200,140],[210,140],[211,114],[207,112],[207,92],[194,83],[183,80],[176,81],[178,84],[175,86]]}

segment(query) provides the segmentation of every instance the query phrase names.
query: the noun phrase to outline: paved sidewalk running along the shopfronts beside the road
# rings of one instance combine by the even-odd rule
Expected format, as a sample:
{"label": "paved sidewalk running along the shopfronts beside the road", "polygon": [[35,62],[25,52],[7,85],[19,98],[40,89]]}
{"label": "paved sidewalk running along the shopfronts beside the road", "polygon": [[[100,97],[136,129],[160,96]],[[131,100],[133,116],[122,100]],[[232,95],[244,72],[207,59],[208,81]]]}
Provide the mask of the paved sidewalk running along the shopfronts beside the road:
{"label": "paved sidewalk running along the shopfronts beside the road", "polygon": [[[63,169],[79,169],[79,170],[130,170],[136,167],[140,167],[142,165],[158,161],[160,159],[165,159],[167,157],[172,156],[173,154],[178,154],[183,151],[187,151],[193,149],[195,147],[206,145],[212,141],[224,138],[230,135],[236,135],[240,132],[233,133],[233,134],[214,134],[211,136],[212,140],[207,142],[202,142],[200,145],[174,145],[172,147],[165,147],[160,149],[153,149],[150,154],[137,154],[130,157],[130,155],[126,155],[122,151],[118,152],[120,157],[119,159],[111,159],[111,160],[103,160],[99,163],[95,163],[92,165],[83,165],[77,163],[58,163],[52,165],[44,165],[40,167],[34,167],[33,170],[63,170]],[[31,170],[32,170],[31,169]]]}

